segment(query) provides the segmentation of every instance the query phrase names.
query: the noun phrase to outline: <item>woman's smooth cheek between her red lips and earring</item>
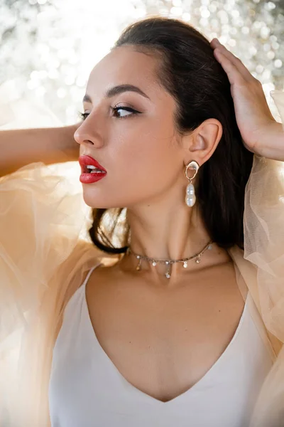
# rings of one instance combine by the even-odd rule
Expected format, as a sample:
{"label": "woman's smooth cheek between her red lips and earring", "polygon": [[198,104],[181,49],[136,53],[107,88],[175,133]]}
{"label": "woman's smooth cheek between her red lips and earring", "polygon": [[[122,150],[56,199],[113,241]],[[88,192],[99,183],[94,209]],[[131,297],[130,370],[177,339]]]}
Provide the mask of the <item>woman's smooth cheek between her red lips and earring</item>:
{"label": "woman's smooth cheek between her red lips and earring", "polygon": [[173,127],[143,127],[119,135],[112,158],[115,182],[140,194],[166,188],[178,174],[180,155]]}

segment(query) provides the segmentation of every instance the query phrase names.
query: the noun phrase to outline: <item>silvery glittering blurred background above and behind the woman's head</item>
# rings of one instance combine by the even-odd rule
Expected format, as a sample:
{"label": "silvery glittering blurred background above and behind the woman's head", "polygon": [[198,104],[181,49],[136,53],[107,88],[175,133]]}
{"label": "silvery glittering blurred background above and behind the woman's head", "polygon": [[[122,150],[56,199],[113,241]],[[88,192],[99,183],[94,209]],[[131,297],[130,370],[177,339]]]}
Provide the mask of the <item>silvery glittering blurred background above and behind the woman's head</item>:
{"label": "silvery glittering blurred background above and behind the woman's head", "polygon": [[283,0],[0,0],[0,125],[79,122],[94,65],[129,23],[157,14],[219,38],[261,81],[280,121],[269,92],[284,89]]}

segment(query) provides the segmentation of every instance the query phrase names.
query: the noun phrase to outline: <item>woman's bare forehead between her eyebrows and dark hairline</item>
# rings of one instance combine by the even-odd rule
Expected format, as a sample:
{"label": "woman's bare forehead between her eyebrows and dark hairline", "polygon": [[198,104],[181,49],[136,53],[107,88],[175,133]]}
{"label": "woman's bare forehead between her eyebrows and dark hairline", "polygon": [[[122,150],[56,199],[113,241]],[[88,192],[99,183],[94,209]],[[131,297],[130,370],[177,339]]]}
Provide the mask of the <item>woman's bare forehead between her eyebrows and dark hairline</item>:
{"label": "woman's bare forehead between her eyebrows and dark hairline", "polygon": [[157,68],[158,60],[153,55],[137,52],[132,46],[115,48],[92,69],[86,93],[102,96],[111,86],[123,84],[157,90]]}

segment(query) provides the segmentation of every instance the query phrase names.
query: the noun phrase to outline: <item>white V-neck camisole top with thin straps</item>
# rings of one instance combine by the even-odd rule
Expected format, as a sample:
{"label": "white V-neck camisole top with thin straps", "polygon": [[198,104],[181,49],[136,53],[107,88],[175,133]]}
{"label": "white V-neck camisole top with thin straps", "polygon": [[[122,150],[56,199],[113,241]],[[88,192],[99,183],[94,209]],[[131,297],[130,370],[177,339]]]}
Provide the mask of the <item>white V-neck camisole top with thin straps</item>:
{"label": "white V-neck camisole top with thin straps", "polygon": [[[94,267],[95,268],[95,267]],[[234,337],[191,389],[161,402],[126,381],[99,344],[85,286],[72,295],[53,349],[49,386],[52,427],[246,427],[273,365],[246,297]]]}

